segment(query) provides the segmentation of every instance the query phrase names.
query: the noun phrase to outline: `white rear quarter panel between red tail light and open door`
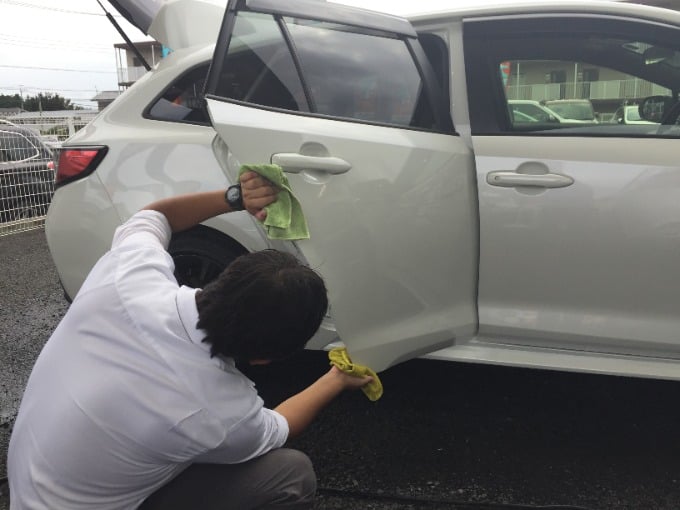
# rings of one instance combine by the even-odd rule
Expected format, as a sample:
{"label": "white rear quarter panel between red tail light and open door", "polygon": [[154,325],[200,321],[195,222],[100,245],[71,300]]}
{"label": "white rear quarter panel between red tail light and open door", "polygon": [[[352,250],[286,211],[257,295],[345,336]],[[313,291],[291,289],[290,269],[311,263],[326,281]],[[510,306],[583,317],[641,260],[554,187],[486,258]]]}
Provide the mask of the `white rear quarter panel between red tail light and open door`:
{"label": "white rear quarter panel between red tail light and open door", "polygon": [[[114,230],[141,207],[178,190],[231,184],[214,157],[212,127],[143,116],[178,73],[205,64],[211,54],[211,46],[173,52],[64,144],[109,148],[95,174],[56,190],[49,210],[48,245],[69,298],[75,297],[89,268],[109,249]],[[93,228],[95,219],[99,228]],[[219,216],[205,224],[246,250],[271,247],[246,213]],[[77,244],[83,249],[71,254],[73,238],[80,239]]]}

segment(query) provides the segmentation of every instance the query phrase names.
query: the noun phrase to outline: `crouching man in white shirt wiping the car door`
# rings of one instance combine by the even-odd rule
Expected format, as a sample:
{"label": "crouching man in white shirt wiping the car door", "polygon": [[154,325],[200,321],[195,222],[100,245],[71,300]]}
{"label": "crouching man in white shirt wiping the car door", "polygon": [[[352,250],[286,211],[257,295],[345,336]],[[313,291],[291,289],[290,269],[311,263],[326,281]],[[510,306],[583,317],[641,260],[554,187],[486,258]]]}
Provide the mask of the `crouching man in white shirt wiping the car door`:
{"label": "crouching man in white shirt wiping the car door", "polygon": [[309,459],[281,446],[371,379],[332,368],[269,410],[237,370],[302,349],[321,323],[323,281],[290,255],[244,255],[205,289],[177,285],[172,232],[241,208],[262,220],[276,200],[253,172],[240,190],[231,206],[223,191],[160,200],[116,230],[31,373],[11,510],[312,507]]}

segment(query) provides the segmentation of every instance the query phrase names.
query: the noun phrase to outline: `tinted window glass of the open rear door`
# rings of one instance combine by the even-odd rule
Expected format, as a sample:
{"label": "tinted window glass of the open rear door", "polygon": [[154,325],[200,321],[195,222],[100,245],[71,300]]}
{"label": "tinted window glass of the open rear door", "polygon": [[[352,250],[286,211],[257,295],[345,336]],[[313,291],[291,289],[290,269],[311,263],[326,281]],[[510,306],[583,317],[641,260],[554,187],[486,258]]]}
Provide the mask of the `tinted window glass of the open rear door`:
{"label": "tinted window glass of the open rear door", "polygon": [[434,125],[408,46],[382,33],[239,13],[222,69],[221,97],[356,121]]}

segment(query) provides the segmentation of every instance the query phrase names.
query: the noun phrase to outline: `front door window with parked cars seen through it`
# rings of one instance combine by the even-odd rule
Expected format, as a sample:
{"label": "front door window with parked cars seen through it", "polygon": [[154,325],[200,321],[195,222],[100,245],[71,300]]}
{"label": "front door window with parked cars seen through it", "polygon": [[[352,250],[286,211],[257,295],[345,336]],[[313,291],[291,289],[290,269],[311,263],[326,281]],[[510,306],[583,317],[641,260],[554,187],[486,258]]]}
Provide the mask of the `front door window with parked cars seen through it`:
{"label": "front door window with parked cars seen through it", "polygon": [[[473,130],[680,137],[677,116],[664,119],[662,126],[661,116],[639,114],[640,104],[652,96],[677,103],[680,34],[659,40],[658,35],[645,37],[642,23],[561,20],[569,26],[565,33],[556,20],[555,30],[546,29],[551,22],[541,22],[535,30],[534,19],[466,27],[470,110],[478,115],[471,119]],[[631,27],[629,35],[626,27]],[[480,106],[484,101],[487,105]]]}

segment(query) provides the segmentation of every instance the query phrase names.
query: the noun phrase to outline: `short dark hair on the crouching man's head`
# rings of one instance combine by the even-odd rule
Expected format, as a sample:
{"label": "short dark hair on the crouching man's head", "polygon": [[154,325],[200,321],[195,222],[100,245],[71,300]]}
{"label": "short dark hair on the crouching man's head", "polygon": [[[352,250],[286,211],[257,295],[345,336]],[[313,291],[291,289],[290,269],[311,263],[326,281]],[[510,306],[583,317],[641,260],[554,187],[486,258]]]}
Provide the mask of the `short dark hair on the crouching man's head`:
{"label": "short dark hair on the crouching man's head", "polygon": [[213,356],[279,360],[304,348],[328,308],[323,279],[293,255],[238,257],[196,298],[198,327]]}

